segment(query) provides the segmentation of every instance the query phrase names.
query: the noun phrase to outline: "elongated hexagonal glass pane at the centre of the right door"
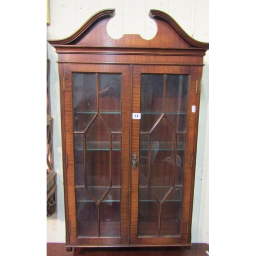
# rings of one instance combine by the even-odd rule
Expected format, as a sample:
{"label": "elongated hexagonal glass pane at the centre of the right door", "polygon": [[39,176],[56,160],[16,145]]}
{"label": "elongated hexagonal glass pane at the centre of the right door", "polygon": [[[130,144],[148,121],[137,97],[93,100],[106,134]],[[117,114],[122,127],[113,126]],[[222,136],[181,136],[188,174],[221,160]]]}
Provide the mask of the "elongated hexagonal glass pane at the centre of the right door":
{"label": "elongated hexagonal glass pane at the centre of the right door", "polygon": [[174,142],[174,132],[163,117],[151,135],[150,187],[161,202],[173,186],[173,166],[164,161],[170,152],[163,146]]}

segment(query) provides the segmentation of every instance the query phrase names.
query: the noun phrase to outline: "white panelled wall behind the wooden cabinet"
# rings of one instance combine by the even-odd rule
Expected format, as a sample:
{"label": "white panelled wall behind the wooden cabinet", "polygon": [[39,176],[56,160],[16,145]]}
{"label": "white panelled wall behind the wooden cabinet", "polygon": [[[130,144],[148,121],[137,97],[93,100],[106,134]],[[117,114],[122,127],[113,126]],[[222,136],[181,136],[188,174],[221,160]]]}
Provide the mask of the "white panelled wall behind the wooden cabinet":
{"label": "white panelled wall behind the wooden cabinet", "polygon": [[[148,17],[151,9],[168,13],[192,37],[208,42],[207,0],[50,0],[48,39],[62,39],[74,33],[94,13],[114,8],[116,16],[108,24],[108,33],[119,38],[122,34],[141,34],[151,39],[156,26]],[[51,59],[51,107],[54,118],[54,164],[57,172],[57,214],[47,218],[47,242],[65,242],[65,216],[61,155],[60,98],[57,54],[48,44]],[[208,224],[208,52],[204,57],[199,114],[198,153],[192,223],[192,242],[209,243]]]}

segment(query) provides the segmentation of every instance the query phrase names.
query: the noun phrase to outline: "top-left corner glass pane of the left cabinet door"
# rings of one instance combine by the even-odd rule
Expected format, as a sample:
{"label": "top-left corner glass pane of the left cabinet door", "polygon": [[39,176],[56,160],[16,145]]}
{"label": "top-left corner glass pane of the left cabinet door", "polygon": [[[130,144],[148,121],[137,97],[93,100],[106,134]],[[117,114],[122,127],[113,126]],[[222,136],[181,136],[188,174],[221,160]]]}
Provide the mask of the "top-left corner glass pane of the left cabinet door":
{"label": "top-left corner glass pane of the left cabinet door", "polygon": [[83,131],[97,110],[96,75],[75,73],[73,75],[74,130]]}

